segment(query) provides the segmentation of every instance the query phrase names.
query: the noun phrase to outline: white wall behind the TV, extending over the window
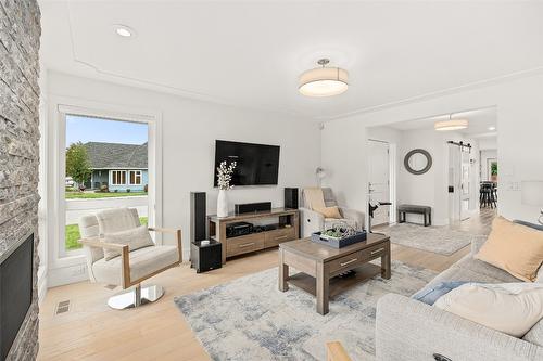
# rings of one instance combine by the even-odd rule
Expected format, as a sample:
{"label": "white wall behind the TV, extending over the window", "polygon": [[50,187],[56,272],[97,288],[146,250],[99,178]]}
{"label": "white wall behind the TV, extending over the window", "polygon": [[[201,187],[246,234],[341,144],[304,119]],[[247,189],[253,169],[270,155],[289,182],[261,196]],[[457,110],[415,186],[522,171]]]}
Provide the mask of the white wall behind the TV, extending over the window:
{"label": "white wall behind the TV, extending over the window", "polygon": [[[207,212],[216,211],[218,192],[213,188],[216,139],[281,146],[279,184],[233,189],[229,193],[230,209],[235,203],[263,201],[272,201],[274,207],[281,207],[285,186],[315,184],[315,169],[320,165],[319,125],[307,119],[214,105],[53,72],[48,76],[48,93],[49,121],[56,121],[59,117],[56,99],[60,98],[73,103],[92,101],[134,108],[135,113],[146,108],[162,114],[162,225],[182,229],[186,256],[189,250],[190,192],[207,192]],[[49,141],[56,141],[54,134]],[[53,176],[49,173],[49,177]],[[52,258],[50,268],[62,268],[63,263],[55,260],[55,255]],[[79,257],[70,262],[70,267],[81,262]],[[58,271],[50,284],[61,283],[62,275],[68,273]]]}

